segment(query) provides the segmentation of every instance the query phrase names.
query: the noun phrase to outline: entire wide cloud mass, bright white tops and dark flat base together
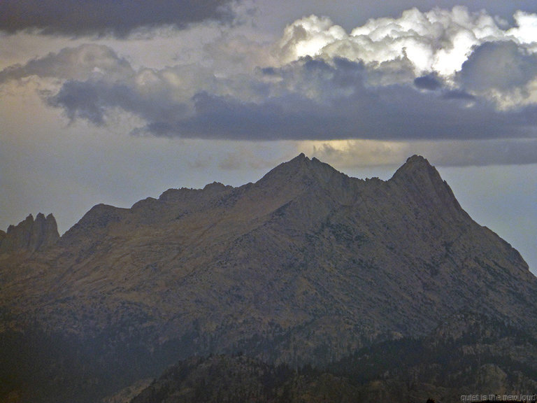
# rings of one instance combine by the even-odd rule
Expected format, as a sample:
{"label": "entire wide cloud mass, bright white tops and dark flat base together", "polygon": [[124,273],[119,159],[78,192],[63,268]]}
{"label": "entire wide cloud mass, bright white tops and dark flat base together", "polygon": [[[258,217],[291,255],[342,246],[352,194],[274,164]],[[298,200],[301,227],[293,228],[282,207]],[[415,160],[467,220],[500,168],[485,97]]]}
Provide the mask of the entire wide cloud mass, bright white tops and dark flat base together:
{"label": "entire wide cloud mass, bright white tops and dark flat base together", "polygon": [[[537,141],[537,15],[513,19],[508,27],[459,6],[411,9],[348,34],[311,15],[273,43],[226,34],[206,44],[205,64],[163,69],[135,68],[107,45],[85,44],[10,66],[0,85],[54,79],[43,98],[69,120],[106,126],[124,112],[143,122],[138,135],[494,140],[494,150],[512,140],[518,143],[507,157],[487,147],[482,155],[515,162],[515,150]],[[481,157],[465,160],[482,164]],[[537,156],[524,157],[531,162]]]}

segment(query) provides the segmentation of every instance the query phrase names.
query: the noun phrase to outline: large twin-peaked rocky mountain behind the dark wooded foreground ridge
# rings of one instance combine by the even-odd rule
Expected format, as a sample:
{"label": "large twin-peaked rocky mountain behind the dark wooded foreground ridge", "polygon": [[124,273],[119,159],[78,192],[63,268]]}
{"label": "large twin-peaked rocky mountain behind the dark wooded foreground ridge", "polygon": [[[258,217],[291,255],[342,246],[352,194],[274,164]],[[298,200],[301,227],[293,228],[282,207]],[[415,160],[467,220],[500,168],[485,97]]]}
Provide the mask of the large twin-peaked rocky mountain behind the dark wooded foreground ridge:
{"label": "large twin-peaked rocky mountain behind the dark wooded foreground ridge", "polygon": [[389,181],[301,154],[238,188],[99,204],[55,243],[0,262],[2,360],[22,363],[0,393],[23,401],[96,401],[192,355],[325,367],[450,323],[447,346],[468,315],[537,336],[526,262],[420,156]]}

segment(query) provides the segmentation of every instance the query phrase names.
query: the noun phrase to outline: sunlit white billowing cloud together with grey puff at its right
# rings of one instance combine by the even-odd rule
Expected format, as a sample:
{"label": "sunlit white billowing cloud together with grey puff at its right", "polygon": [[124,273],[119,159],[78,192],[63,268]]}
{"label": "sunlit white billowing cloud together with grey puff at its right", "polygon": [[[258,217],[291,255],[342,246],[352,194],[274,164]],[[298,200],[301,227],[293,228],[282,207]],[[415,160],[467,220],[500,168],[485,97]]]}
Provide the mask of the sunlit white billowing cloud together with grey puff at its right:
{"label": "sunlit white billowing cloud together with grey puff at its right", "polygon": [[347,34],[328,18],[310,15],[285,28],[280,62],[344,57],[366,64],[370,85],[434,75],[452,90],[512,109],[537,99],[537,15],[518,11],[514,20],[517,26],[506,28],[484,10],[413,8],[399,18],[368,20]]}

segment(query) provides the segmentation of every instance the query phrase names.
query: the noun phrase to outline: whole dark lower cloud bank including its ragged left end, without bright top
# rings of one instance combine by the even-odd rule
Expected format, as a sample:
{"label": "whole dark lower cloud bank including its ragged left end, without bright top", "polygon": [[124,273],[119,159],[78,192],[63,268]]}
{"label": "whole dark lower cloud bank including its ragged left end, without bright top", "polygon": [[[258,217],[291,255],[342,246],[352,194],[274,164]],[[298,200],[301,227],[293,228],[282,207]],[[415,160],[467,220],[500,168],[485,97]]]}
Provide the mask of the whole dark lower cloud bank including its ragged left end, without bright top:
{"label": "whole dark lower cloud bank including its ragged left end, without bright top", "polygon": [[[142,79],[144,75],[148,77]],[[368,85],[368,70],[347,59],[304,58],[236,83],[185,83],[176,70],[133,80],[70,80],[49,102],[71,119],[102,125],[115,108],[147,122],[137,133],[204,139],[494,139],[529,137],[536,107],[499,113],[465,92],[420,92],[414,85]],[[173,87],[173,80],[178,80]],[[210,74],[205,83],[210,83]],[[428,84],[430,86],[430,84]],[[187,98],[185,94],[191,93]]]}

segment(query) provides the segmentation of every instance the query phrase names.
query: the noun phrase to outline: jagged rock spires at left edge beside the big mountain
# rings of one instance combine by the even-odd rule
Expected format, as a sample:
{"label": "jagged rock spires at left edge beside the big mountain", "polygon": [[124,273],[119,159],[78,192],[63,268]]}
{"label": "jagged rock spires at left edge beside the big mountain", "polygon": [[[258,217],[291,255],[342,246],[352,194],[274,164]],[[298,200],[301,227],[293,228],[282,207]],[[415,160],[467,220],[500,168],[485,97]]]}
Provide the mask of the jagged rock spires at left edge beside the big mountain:
{"label": "jagged rock spires at left edge beside the big mountain", "polygon": [[0,253],[17,250],[36,252],[54,245],[58,239],[54,215],[45,217],[43,213],[38,213],[34,220],[34,216],[30,214],[24,221],[10,225],[6,233],[0,234]]}

